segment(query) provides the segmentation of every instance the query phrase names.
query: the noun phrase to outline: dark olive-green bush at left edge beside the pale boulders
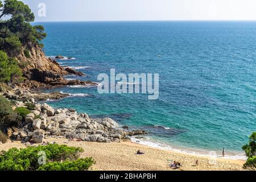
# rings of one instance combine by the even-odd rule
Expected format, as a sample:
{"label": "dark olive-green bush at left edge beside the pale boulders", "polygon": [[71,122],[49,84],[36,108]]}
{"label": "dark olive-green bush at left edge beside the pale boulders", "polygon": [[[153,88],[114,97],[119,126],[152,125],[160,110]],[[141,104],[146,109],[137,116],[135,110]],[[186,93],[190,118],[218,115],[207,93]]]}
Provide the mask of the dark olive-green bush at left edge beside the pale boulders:
{"label": "dark olive-green bush at left edge beside the pale boulders", "polygon": [[19,115],[11,109],[11,102],[5,97],[0,96],[0,129],[6,129],[6,127],[16,126],[19,124],[21,118]]}

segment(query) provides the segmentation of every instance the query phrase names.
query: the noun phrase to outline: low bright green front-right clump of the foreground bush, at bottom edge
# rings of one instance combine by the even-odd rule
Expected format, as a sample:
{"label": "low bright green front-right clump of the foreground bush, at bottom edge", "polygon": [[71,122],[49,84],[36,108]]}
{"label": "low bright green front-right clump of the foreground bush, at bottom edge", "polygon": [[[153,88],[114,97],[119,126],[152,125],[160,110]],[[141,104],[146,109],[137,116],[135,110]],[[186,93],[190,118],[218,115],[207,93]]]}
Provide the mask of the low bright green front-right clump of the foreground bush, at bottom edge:
{"label": "low bright green front-right clump of the foreground bush, at bottom edge", "polygon": [[77,159],[75,161],[47,163],[38,168],[38,171],[88,171],[94,164],[92,158]]}

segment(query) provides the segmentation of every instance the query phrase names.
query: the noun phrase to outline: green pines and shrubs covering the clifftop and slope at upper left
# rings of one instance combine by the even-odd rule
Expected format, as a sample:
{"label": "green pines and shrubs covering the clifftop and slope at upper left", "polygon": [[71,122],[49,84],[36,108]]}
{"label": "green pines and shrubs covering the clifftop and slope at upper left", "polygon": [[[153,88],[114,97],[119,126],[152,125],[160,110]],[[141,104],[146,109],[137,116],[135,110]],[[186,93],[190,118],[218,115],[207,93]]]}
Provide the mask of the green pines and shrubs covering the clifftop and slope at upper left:
{"label": "green pines and shrubs covering the clifftop and slope at upper left", "polygon": [[43,47],[44,27],[32,26],[30,23],[34,20],[34,13],[23,2],[0,0],[0,82],[13,82],[14,78],[22,77],[15,58],[22,50],[30,57],[32,47]]}

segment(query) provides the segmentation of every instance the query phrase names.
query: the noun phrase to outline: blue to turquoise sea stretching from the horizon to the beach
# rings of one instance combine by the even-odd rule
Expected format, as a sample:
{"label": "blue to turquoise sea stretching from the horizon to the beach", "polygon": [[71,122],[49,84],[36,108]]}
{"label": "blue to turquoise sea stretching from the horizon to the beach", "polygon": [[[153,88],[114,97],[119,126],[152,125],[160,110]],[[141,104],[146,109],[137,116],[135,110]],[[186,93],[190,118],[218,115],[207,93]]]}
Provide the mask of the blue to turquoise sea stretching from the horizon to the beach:
{"label": "blue to turquoise sea stretching from the horizon to the beach", "polygon": [[[159,99],[99,94],[96,87],[58,88],[73,94],[54,107],[150,131],[142,144],[241,158],[256,131],[256,22],[51,22],[43,24],[47,56],[97,81],[100,73],[159,73]],[[211,152],[212,154],[212,152]]]}

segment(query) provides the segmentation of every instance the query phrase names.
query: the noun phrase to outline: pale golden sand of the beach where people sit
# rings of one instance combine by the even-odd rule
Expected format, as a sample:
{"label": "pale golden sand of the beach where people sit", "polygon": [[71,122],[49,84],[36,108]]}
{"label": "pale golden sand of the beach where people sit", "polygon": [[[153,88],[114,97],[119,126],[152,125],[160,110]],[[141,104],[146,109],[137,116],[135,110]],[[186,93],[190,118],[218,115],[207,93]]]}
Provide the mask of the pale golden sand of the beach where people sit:
{"label": "pale golden sand of the beach where people sit", "polygon": [[[84,152],[81,157],[92,156],[96,160],[93,170],[104,171],[166,171],[166,170],[242,170],[244,160],[229,160],[216,158],[216,164],[211,165],[209,158],[188,154],[181,154],[170,150],[161,150],[131,142],[121,143],[96,143],[96,142],[75,142],[67,139],[46,139],[49,142],[67,144],[68,146],[82,147]],[[20,142],[7,142],[0,145],[0,151],[8,150],[11,147],[25,147]],[[135,155],[138,150],[145,152],[144,155]],[[183,167],[171,169],[168,167],[168,160],[176,160]],[[195,167],[196,160],[199,166]],[[212,161],[214,163],[214,161]]]}

